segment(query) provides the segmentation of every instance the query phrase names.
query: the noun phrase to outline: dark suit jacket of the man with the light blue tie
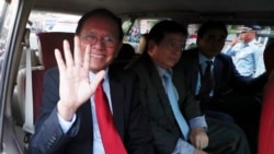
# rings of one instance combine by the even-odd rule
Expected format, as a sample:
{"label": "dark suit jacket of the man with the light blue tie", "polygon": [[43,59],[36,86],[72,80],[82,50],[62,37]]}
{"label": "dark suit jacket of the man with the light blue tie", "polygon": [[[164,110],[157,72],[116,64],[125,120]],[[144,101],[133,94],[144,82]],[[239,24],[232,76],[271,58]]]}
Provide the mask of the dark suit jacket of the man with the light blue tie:
{"label": "dark suit jacket of the man with the light blue tie", "polygon": [[[150,119],[157,153],[170,154],[174,151],[182,134],[173,116],[162,80],[147,52],[144,52],[129,69],[133,69],[139,79],[139,94]],[[186,121],[202,116],[198,104],[193,103],[194,97],[187,91],[182,71],[174,70],[172,78],[179,94],[179,106]]]}

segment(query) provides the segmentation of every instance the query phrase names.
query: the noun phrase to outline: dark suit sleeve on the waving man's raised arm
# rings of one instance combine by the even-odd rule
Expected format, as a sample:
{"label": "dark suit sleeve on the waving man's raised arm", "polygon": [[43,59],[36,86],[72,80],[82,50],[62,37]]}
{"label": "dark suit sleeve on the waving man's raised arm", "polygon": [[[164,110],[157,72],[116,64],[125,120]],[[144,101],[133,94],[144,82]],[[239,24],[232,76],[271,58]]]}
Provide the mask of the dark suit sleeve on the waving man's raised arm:
{"label": "dark suit sleeve on the waving man's raised arm", "polygon": [[58,70],[49,70],[44,76],[44,93],[41,115],[35,121],[35,133],[30,142],[32,154],[61,153],[67,142],[79,131],[79,119],[70,130],[64,134],[58,117],[56,104],[59,99]]}

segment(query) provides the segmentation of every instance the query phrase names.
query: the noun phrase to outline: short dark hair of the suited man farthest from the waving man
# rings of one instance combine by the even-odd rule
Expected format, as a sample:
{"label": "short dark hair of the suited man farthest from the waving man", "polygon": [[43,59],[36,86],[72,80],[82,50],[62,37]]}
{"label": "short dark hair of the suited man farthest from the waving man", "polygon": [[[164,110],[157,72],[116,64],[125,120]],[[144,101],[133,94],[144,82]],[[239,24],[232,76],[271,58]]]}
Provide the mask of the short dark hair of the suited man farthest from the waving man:
{"label": "short dark hair of the suited man farthest from the waving man", "polygon": [[207,33],[210,29],[221,29],[226,33],[226,36],[228,34],[227,26],[222,22],[220,22],[220,21],[207,21],[204,24],[202,24],[201,27],[198,28],[197,36],[199,38],[203,38],[205,33]]}

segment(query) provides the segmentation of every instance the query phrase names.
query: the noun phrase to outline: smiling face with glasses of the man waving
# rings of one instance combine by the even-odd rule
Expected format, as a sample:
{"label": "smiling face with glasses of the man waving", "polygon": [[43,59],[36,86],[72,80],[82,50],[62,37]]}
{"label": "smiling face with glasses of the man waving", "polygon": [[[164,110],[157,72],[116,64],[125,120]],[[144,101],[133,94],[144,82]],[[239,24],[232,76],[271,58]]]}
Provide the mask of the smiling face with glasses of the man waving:
{"label": "smiling face with glasses of the man waving", "polygon": [[93,16],[83,23],[79,34],[82,58],[90,45],[90,70],[98,72],[107,68],[122,46],[117,24],[105,16]]}

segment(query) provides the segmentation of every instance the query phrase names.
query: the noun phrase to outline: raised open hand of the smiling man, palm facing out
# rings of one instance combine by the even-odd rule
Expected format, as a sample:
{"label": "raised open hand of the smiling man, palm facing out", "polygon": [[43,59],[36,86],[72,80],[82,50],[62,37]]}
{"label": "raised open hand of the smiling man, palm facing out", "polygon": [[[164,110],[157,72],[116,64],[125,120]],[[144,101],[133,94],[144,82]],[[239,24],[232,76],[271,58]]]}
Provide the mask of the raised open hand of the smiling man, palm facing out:
{"label": "raised open hand of the smiling man, palm facing out", "polygon": [[[64,40],[65,60],[58,49],[55,57],[59,69],[59,95],[57,104],[59,115],[70,121],[77,109],[85,103],[95,92],[98,84],[104,76],[104,71],[95,74],[93,81],[89,80],[90,46],[81,51],[79,37],[75,37],[73,57],[69,43]],[[82,52],[83,56],[82,56]]]}

